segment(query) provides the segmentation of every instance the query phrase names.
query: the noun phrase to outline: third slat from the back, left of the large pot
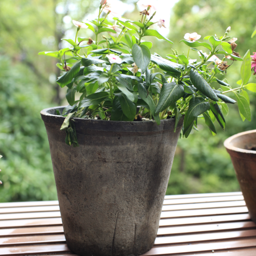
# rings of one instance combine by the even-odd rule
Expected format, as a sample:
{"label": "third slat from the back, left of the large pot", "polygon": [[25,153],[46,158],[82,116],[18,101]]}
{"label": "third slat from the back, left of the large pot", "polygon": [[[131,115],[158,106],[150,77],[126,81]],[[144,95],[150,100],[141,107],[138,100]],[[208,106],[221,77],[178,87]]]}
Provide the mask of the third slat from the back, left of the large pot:
{"label": "third slat from the back, left of the large pot", "polygon": [[60,212],[26,212],[26,213],[8,213],[0,214],[0,220],[21,220],[38,218],[56,218],[60,217]]}

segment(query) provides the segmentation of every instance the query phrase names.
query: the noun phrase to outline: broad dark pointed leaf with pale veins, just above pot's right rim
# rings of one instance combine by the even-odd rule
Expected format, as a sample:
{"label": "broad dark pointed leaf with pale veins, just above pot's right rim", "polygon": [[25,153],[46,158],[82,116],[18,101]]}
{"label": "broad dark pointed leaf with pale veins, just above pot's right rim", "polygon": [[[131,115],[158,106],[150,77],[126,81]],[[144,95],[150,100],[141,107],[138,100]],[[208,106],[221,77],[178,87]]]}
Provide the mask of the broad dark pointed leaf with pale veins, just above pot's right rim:
{"label": "broad dark pointed leaf with pale veins, just above pot's right rim", "polygon": [[176,84],[176,82],[163,84],[155,114],[158,115],[164,111],[164,109],[179,100],[183,94],[184,88],[181,84]]}

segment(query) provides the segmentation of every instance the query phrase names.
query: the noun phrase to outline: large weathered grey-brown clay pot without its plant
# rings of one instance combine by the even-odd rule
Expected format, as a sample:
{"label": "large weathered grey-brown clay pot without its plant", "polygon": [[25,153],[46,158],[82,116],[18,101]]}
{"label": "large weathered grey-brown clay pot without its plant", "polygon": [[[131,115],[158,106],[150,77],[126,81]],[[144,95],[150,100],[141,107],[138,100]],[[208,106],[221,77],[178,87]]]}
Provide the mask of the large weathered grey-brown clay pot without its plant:
{"label": "large weathered grey-brown clay pot without its plant", "polygon": [[139,255],[155,242],[183,124],[75,118],[80,147],[65,144],[63,107],[41,111],[68,247],[79,255]]}

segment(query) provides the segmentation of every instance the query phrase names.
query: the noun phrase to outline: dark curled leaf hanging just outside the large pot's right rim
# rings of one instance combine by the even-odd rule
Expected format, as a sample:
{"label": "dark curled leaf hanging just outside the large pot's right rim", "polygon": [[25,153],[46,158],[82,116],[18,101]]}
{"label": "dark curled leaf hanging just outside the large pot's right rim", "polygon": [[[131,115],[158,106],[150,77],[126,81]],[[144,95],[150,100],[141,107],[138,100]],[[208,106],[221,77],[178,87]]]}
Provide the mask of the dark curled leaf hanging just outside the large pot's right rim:
{"label": "dark curled leaf hanging just outside the large pot's right rim", "polygon": [[196,117],[203,114],[206,110],[210,108],[210,103],[205,102],[201,97],[192,98],[189,101],[188,110],[184,118],[184,131],[185,137],[188,138],[189,133],[193,128],[193,124]]}

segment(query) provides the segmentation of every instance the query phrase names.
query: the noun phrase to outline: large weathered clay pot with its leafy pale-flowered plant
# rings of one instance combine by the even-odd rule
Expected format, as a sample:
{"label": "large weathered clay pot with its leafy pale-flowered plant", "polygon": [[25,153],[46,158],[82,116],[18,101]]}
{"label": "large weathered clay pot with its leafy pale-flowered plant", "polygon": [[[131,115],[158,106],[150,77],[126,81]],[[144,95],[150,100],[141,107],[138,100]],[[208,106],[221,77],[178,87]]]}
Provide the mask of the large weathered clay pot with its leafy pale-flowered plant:
{"label": "large weathered clay pot with its leafy pale-flowered plant", "polygon": [[[224,36],[204,37],[208,42],[187,33],[180,42],[188,54],[172,50],[163,58],[151,54],[152,43],[144,39],[155,36],[172,44],[152,28],[165,27],[164,20],[154,21],[153,5],[138,4],[145,8],[139,21],[114,18],[113,24],[106,18],[116,13],[102,0],[95,20],[73,20],[75,40],[63,39],[71,47],[39,53],[59,60],[63,75],[57,83],[67,86],[69,106],[44,109],[41,115],[66,241],[79,255],[147,252],[156,238],[180,132],[188,137],[197,118],[213,135],[214,120],[224,129],[226,103],[236,103],[228,92],[236,95],[241,115],[251,118],[243,85],[232,89],[216,78],[227,72],[226,59],[243,61],[234,51],[236,38],[226,42],[230,27]],[[85,28],[93,39],[78,36]],[[190,50],[198,52],[198,60],[189,58]],[[212,82],[221,88],[212,89]]]}

